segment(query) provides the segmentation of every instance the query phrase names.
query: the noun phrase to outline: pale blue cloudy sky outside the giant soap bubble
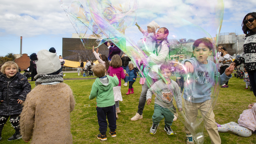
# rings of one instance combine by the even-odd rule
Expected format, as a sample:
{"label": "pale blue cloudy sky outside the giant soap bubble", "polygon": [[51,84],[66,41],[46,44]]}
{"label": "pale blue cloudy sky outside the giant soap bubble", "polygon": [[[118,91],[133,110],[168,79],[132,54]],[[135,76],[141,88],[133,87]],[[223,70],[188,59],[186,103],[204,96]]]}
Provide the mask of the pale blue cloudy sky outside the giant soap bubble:
{"label": "pale blue cloudy sky outside the giant soap bubble", "polygon": [[[63,0],[71,4],[73,0]],[[123,0],[110,0],[113,5]],[[133,0],[131,0],[133,1]],[[138,0],[138,10],[133,25],[125,30],[135,43],[143,37],[135,26],[143,29],[155,21],[169,30],[169,39],[198,39],[215,37],[223,14],[220,33],[243,34],[242,20],[249,12],[256,12],[255,0]],[[219,11],[224,4],[224,12]],[[58,0],[0,0],[0,56],[7,53],[28,55],[54,47],[62,55],[62,38],[76,33]]]}

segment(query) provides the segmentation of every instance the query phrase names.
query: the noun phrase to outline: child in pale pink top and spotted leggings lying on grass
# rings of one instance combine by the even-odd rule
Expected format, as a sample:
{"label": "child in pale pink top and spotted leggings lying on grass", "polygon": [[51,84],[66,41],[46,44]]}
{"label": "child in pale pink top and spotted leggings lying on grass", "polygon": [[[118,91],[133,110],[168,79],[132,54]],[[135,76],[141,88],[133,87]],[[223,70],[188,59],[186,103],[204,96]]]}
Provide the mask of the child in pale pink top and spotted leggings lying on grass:
{"label": "child in pale pink top and spotted leggings lying on grass", "polygon": [[223,125],[217,123],[217,126],[218,132],[231,131],[242,137],[251,136],[252,132],[256,130],[256,103],[249,104],[248,109],[240,114],[238,124],[235,122]]}

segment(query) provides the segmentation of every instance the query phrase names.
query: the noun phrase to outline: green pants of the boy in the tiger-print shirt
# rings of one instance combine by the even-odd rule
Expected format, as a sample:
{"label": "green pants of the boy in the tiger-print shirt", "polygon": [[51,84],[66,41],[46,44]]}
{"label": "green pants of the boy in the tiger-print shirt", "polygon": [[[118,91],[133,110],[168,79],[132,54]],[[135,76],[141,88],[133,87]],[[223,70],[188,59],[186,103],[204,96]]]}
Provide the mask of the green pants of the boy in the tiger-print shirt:
{"label": "green pants of the boy in the tiger-print shirt", "polygon": [[174,114],[168,108],[163,108],[158,104],[155,104],[154,114],[152,116],[153,123],[157,125],[163,118],[165,125],[167,127],[171,126],[174,119]]}

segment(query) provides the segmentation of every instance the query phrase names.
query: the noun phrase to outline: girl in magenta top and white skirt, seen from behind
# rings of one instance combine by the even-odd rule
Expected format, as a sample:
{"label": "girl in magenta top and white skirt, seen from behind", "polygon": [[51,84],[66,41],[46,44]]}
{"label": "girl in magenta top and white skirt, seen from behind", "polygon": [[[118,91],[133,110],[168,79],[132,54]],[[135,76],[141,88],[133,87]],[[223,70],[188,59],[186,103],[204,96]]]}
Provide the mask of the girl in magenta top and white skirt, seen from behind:
{"label": "girl in magenta top and white skirt, seen from behind", "polygon": [[118,119],[117,113],[120,113],[119,101],[123,101],[121,94],[121,78],[124,79],[126,72],[122,67],[122,60],[119,55],[114,55],[110,61],[110,66],[108,68],[108,73],[110,76],[115,74],[119,80],[118,86],[113,87],[114,97],[115,97],[115,106],[116,106],[116,118]]}

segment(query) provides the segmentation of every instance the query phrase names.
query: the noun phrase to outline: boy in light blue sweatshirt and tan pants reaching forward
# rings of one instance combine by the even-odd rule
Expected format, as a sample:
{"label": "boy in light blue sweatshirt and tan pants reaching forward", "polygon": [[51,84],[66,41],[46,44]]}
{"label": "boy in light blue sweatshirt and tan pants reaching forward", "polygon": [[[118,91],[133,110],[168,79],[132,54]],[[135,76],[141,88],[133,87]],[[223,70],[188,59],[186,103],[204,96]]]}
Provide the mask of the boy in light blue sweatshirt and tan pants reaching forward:
{"label": "boy in light blue sweatshirt and tan pants reaching forward", "polygon": [[[234,66],[228,67],[225,73],[220,75],[216,64],[207,60],[208,56],[212,54],[213,44],[206,38],[196,40],[192,48],[195,57],[182,62],[187,72],[191,73],[187,80],[189,83],[186,83],[188,86],[185,85],[183,94],[185,115],[189,123],[196,121],[198,110],[201,111],[203,117],[205,115],[209,116],[205,127],[211,142],[221,143],[211,106],[211,88],[216,82],[215,80],[218,80],[219,85],[227,82],[232,77],[231,74],[233,73]],[[208,113],[206,110],[208,110]],[[186,127],[185,131],[187,133],[187,144],[194,143],[193,137]]]}

